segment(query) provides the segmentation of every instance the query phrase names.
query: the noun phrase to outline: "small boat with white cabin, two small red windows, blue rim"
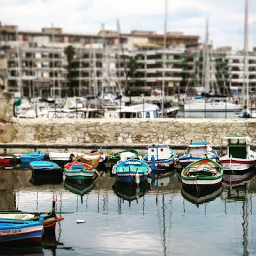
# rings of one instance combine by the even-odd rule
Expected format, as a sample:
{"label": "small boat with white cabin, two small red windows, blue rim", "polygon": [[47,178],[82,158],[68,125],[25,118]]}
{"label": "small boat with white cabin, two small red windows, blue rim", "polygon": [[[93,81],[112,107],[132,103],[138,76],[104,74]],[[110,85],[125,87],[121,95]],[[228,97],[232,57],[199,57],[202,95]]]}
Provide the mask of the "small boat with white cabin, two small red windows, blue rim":
{"label": "small boat with white cabin, two small red windows, blue rim", "polygon": [[152,156],[154,156],[155,159],[156,172],[169,171],[170,168],[174,167],[176,153],[172,148],[169,148],[168,146],[152,145],[148,147],[148,154],[143,157],[142,161],[151,167]]}

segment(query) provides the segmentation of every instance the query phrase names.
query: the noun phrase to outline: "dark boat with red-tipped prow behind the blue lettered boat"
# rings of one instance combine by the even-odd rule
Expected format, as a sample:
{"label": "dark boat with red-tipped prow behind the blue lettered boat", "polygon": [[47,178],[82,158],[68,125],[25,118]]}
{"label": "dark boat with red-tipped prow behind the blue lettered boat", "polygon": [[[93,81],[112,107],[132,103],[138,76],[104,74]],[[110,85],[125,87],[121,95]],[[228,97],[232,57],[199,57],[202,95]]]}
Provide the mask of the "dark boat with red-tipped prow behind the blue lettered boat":
{"label": "dark boat with red-tipped prow behind the blue lettered boat", "polygon": [[64,220],[64,218],[58,217],[56,215],[56,201],[52,200],[52,209],[51,211],[45,212],[24,212],[24,211],[3,211],[0,210],[0,220],[29,220],[29,221],[38,221],[40,216],[44,218],[44,228],[47,230],[55,230],[56,223],[58,221]]}

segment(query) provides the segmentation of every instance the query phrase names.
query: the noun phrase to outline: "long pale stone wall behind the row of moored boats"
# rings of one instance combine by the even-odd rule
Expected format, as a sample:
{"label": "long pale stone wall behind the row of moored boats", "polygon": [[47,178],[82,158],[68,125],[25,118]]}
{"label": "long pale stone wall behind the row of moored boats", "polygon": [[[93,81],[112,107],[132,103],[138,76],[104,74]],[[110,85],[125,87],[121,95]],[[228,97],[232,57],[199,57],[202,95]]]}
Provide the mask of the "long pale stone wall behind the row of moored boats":
{"label": "long pale stone wall behind the row of moored boats", "polygon": [[[7,134],[12,143],[54,143],[100,145],[120,143],[189,144],[203,139],[220,145],[226,135],[248,135],[256,145],[253,119],[16,119]],[[5,134],[6,135],[6,134]],[[4,139],[4,141],[3,141]]]}

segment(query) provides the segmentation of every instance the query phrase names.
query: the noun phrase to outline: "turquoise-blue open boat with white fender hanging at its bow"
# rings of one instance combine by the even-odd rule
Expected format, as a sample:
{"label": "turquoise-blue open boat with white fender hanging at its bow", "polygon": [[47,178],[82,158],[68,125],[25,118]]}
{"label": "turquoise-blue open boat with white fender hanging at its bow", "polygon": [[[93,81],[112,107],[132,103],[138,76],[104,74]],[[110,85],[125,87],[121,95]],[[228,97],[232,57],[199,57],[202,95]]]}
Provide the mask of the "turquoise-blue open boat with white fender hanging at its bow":
{"label": "turquoise-blue open boat with white fender hanging at its bow", "polygon": [[127,184],[139,184],[145,181],[150,172],[151,169],[148,164],[138,159],[118,161],[112,170],[112,173],[116,175],[117,181]]}

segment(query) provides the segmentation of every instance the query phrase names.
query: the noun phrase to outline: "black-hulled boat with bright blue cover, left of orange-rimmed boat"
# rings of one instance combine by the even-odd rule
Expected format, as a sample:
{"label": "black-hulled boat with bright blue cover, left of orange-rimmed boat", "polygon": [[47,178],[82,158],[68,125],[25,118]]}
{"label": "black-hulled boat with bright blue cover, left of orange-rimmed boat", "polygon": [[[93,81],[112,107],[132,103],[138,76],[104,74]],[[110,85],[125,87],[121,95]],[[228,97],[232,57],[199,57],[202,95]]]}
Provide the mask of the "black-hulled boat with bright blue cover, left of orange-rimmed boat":
{"label": "black-hulled boat with bright blue cover, left of orange-rimmed boat", "polygon": [[34,177],[41,177],[45,179],[58,179],[62,177],[62,168],[56,163],[48,161],[33,161],[29,163]]}

